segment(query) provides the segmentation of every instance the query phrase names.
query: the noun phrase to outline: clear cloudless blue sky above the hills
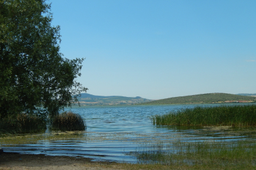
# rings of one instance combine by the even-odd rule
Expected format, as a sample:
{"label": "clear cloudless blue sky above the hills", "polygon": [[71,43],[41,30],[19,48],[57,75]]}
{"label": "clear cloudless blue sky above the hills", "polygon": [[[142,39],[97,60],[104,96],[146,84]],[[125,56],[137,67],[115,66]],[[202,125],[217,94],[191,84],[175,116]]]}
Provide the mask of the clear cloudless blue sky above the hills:
{"label": "clear cloudless blue sky above the hills", "polygon": [[256,93],[256,1],[49,0],[87,93]]}

